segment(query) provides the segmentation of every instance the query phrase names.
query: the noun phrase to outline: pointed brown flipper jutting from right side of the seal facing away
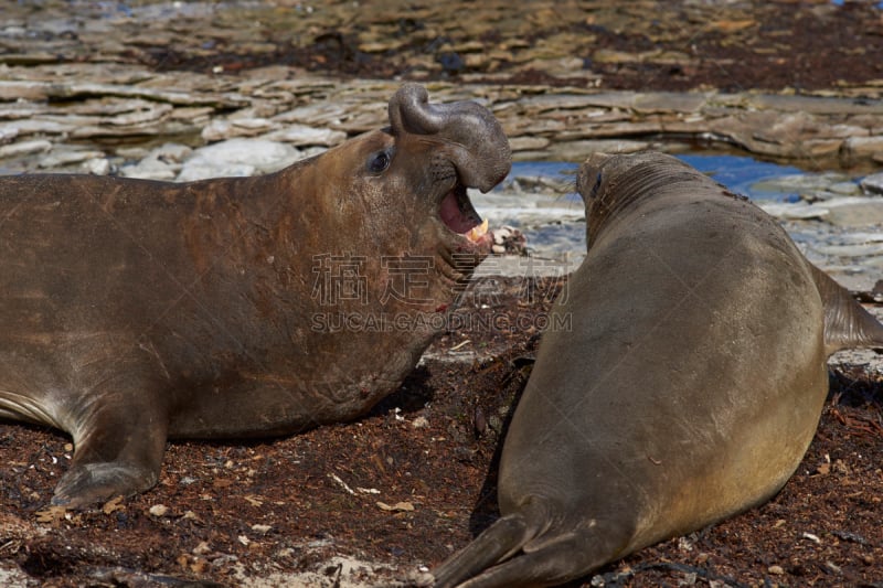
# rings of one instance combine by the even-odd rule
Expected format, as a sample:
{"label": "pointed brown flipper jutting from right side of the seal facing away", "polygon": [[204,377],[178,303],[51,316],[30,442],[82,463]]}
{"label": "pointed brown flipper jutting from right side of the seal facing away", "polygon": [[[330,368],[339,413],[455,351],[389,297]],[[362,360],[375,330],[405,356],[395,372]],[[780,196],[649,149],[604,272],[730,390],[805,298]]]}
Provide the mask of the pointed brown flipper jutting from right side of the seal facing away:
{"label": "pointed brown flipper jutting from right side of the seal facing away", "polygon": [[825,308],[825,351],[883,348],[883,324],[825,271],[810,264]]}

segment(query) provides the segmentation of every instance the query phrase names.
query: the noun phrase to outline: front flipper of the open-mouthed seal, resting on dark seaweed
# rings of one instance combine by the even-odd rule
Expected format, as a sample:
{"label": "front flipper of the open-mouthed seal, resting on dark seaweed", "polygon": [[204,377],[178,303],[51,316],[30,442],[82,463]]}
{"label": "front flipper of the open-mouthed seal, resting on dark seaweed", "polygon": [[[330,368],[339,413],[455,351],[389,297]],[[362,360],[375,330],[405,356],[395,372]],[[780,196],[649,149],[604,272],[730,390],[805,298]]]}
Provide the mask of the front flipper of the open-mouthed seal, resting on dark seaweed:
{"label": "front flipper of the open-mouthed seal, resting on dark seaweed", "polygon": [[157,483],[168,431],[163,403],[143,389],[114,402],[108,396],[74,409],[76,427],[65,427],[74,436],[74,459],[55,487],[53,504],[83,509]]}

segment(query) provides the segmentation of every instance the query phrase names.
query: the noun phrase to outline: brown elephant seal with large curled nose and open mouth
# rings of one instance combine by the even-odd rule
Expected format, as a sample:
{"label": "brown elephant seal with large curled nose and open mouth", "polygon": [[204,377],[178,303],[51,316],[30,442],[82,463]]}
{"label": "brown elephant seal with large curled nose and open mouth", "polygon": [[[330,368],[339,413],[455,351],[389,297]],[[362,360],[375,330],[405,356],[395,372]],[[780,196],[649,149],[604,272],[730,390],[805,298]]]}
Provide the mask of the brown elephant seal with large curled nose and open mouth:
{"label": "brown elephant seal with large curled nose and open mouth", "polygon": [[54,503],[150,488],[167,437],[292,434],[400,385],[486,255],[466,189],[510,150],[417,85],[389,115],[257,178],[0,179],[0,417],[73,436]]}

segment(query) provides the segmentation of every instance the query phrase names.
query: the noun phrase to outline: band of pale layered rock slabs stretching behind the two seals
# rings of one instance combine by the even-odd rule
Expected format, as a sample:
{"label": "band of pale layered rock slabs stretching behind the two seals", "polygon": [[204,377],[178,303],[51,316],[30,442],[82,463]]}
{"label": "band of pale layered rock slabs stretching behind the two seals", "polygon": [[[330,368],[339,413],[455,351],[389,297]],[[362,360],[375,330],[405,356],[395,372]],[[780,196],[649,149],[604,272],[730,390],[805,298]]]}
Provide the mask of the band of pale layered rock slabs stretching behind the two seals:
{"label": "band of pale layered rock slabs stretching behind the two seals", "polygon": [[[306,75],[275,66],[247,79],[108,64],[0,66],[0,164],[9,172],[110,172],[143,146],[247,137],[331,147],[385,122],[400,81]],[[726,150],[805,169],[883,165],[883,103],[720,92],[426,84],[434,99],[491,108],[515,160],[581,161],[594,151]],[[89,149],[84,149],[88,147]],[[309,151],[307,151],[309,152]],[[109,159],[105,167],[93,160]]]}

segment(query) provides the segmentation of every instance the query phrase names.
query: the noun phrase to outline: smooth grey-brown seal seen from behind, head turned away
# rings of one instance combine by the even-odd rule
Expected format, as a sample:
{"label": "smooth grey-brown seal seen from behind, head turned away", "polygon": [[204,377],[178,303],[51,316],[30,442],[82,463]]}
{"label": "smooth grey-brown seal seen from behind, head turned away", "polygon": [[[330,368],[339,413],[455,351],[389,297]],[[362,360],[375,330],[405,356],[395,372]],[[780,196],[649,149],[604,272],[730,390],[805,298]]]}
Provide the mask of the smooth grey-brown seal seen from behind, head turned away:
{"label": "smooth grey-brown seal seen from behind, head turned away", "polygon": [[588,254],[552,311],[572,331],[543,335],[513,415],[502,517],[437,587],[558,585],[763,503],[815,434],[826,357],[883,346],[773,218],[679,160],[596,154],[577,190]]}

